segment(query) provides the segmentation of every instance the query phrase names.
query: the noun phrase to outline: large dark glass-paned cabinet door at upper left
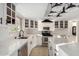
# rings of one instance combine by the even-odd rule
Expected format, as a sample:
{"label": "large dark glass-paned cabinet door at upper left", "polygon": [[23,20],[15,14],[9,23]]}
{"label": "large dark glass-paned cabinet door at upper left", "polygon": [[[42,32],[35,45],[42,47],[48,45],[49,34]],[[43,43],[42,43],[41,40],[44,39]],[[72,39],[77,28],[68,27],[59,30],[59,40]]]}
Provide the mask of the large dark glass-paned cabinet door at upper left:
{"label": "large dark glass-paned cabinet door at upper left", "polygon": [[15,5],[12,3],[7,3],[7,18],[6,24],[15,24]]}

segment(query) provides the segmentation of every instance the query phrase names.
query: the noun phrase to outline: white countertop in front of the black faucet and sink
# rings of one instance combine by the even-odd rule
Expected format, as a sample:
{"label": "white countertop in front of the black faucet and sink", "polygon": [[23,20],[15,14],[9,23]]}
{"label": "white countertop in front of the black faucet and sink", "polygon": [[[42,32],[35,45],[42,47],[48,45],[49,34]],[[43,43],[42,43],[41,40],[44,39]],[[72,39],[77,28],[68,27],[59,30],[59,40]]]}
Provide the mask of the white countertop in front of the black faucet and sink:
{"label": "white countertop in front of the black faucet and sink", "polygon": [[0,41],[0,56],[9,56],[27,42],[27,39],[6,39]]}

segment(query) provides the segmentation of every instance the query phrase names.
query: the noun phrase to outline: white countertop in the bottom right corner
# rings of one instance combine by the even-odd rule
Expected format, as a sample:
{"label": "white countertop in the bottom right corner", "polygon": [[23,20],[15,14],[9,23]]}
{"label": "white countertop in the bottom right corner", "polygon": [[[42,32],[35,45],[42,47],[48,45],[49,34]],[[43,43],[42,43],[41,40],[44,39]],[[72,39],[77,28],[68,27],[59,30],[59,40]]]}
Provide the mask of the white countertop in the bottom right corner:
{"label": "white countertop in the bottom right corner", "polygon": [[58,46],[68,56],[79,56],[79,43]]}

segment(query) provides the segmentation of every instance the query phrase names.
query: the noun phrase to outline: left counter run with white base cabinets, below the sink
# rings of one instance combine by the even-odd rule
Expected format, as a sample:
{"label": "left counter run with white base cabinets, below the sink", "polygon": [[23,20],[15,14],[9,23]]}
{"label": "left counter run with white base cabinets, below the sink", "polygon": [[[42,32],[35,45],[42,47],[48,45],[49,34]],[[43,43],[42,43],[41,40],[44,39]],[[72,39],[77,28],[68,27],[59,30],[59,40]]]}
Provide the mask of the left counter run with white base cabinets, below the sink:
{"label": "left counter run with white base cabinets, below the sink", "polygon": [[[22,49],[27,50],[27,55],[30,55],[31,50],[37,46],[37,35],[29,35],[27,39],[4,39],[0,41],[0,56],[23,56]],[[18,51],[21,51],[18,55]]]}

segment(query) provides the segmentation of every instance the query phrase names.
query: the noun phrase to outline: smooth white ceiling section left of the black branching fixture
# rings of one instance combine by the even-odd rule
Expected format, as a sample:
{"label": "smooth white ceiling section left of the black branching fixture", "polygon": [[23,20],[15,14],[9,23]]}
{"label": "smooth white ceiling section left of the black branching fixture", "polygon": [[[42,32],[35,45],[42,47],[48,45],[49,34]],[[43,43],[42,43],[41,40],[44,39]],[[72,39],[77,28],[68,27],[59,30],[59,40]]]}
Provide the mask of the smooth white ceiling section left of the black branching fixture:
{"label": "smooth white ceiling section left of the black branching fixture", "polygon": [[24,17],[42,18],[45,15],[48,3],[17,3],[16,11]]}

